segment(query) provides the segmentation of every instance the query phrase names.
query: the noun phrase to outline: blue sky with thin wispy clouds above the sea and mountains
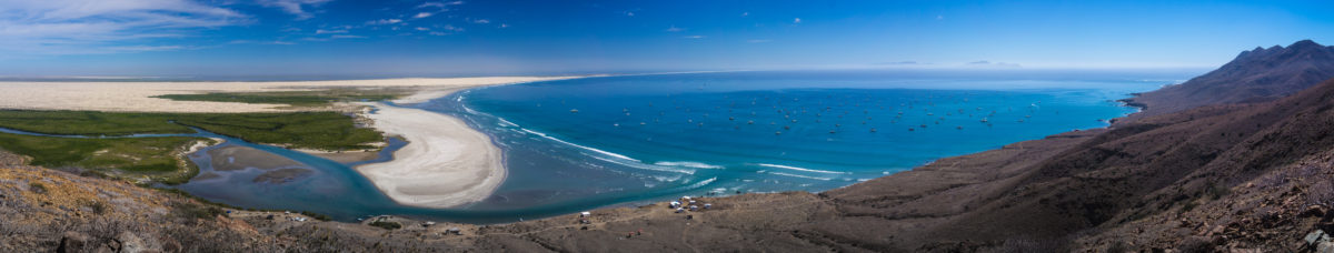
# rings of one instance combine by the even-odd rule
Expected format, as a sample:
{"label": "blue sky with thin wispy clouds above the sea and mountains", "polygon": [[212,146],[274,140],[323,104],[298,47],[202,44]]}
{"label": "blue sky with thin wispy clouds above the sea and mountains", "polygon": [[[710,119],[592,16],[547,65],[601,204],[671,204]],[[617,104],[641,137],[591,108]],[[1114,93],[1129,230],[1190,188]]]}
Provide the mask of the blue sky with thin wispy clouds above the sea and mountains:
{"label": "blue sky with thin wispy clouds above the sea and mountains", "polygon": [[[0,0],[0,76],[1213,68],[1321,1]],[[986,63],[986,64],[982,64]]]}

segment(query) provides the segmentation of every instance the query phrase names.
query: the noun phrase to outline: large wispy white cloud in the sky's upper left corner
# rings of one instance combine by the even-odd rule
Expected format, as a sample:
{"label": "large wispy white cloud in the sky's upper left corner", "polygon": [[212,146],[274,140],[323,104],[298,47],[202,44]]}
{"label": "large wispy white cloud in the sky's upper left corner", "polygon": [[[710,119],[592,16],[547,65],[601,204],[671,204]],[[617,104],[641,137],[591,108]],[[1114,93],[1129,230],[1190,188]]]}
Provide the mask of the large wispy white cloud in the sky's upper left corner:
{"label": "large wispy white cloud in the sky's upper left corner", "polygon": [[193,0],[0,0],[0,55],[189,49],[152,40],[244,23],[245,15]]}

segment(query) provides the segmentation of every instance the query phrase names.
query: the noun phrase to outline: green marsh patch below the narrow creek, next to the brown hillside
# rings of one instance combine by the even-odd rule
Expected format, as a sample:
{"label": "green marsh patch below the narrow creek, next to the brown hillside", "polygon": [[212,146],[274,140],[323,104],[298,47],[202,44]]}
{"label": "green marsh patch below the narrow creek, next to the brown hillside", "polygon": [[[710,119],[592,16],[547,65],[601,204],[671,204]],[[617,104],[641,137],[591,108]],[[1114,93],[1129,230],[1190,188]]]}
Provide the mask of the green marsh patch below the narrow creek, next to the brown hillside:
{"label": "green marsh patch below the narrow creek, next to the brown hillside", "polygon": [[177,150],[184,150],[199,140],[207,138],[64,138],[0,133],[0,148],[32,157],[32,165],[115,169],[175,184],[197,173],[193,166],[181,169],[183,158],[177,157]]}

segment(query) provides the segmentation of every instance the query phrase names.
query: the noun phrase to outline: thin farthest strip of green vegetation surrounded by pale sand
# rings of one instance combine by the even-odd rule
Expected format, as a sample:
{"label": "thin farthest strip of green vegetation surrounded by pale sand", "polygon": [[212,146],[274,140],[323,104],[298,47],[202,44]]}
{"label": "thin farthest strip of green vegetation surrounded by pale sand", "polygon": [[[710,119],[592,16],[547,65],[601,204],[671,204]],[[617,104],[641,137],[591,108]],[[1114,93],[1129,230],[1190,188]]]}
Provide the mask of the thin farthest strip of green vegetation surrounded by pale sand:
{"label": "thin farthest strip of green vegetation surrounded by pale sand", "polygon": [[205,95],[163,95],[157,99],[179,101],[213,101],[213,103],[248,103],[248,104],[287,104],[292,107],[325,107],[335,101],[378,101],[391,100],[407,95],[399,89],[324,89],[299,92],[243,92],[243,93],[205,93]]}

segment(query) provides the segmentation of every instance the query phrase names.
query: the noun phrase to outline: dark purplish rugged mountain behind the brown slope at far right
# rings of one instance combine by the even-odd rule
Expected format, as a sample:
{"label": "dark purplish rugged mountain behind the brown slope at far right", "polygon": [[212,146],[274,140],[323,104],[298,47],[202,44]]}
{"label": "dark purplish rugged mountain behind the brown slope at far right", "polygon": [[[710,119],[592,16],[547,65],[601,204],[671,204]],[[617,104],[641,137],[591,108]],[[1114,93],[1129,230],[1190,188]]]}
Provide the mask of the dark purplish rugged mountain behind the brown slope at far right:
{"label": "dark purplish rugged mountain behind the brown slope at far right", "polygon": [[1311,40],[1255,48],[1190,81],[1123,100],[1145,108],[1131,119],[1201,105],[1270,101],[1334,77],[1334,47]]}

